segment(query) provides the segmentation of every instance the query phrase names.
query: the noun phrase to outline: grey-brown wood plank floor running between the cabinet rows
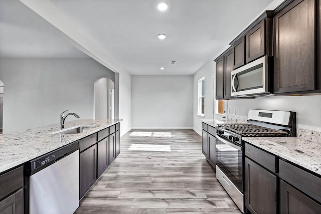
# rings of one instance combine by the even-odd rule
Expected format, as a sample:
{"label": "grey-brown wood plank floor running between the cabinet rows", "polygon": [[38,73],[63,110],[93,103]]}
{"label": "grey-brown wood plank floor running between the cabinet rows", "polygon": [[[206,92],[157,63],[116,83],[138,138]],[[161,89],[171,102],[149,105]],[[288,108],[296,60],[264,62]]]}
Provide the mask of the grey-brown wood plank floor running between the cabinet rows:
{"label": "grey-brown wood plank floor running between the cabinet rows", "polygon": [[194,130],[131,130],[75,213],[240,213]]}

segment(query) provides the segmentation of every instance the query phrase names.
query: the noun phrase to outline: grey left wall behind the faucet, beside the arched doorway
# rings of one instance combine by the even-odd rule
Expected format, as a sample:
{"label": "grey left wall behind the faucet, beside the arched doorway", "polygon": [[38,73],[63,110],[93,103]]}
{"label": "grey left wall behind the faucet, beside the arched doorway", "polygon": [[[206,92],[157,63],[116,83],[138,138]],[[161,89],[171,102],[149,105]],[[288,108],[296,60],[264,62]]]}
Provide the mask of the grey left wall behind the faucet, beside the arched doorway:
{"label": "grey left wall behind the faucet, beside the arched doorway", "polygon": [[93,119],[94,82],[114,76],[93,59],[0,59],[4,132],[58,124],[67,109]]}

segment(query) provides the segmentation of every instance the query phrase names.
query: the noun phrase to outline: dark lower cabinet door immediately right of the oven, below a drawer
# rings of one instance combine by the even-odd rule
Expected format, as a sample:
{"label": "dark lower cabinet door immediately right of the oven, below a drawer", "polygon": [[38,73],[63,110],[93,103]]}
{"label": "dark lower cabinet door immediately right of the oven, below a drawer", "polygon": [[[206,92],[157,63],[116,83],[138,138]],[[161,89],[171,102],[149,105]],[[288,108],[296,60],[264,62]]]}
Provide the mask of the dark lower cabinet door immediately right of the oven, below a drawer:
{"label": "dark lower cabinet door immediately right of the oven, below a drawer", "polygon": [[276,213],[277,176],[245,158],[245,205],[251,213]]}

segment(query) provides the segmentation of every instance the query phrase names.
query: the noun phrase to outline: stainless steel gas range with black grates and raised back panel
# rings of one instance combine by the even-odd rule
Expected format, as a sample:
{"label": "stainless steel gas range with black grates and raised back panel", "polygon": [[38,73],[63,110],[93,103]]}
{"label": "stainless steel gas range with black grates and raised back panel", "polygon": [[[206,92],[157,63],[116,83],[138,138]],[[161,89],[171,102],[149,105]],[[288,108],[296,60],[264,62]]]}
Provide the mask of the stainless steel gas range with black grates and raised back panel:
{"label": "stainless steel gas range with black grates and raised back panel", "polygon": [[295,120],[295,112],[250,109],[248,123],[216,125],[216,177],[242,212],[245,189],[242,137],[295,136]]}

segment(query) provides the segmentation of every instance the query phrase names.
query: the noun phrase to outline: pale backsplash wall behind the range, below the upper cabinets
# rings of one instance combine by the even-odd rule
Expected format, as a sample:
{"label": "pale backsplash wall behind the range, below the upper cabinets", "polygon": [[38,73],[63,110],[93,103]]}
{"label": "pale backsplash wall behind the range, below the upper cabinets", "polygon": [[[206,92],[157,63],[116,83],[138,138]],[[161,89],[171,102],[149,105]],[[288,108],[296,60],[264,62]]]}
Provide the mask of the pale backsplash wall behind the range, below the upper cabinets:
{"label": "pale backsplash wall behind the range, below the upper cabinets", "polygon": [[[321,95],[274,96],[255,99],[228,100],[230,112],[236,109],[237,117],[247,118],[248,109],[283,110],[296,112],[298,128],[321,131]],[[234,116],[234,115],[231,115]]]}

